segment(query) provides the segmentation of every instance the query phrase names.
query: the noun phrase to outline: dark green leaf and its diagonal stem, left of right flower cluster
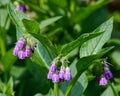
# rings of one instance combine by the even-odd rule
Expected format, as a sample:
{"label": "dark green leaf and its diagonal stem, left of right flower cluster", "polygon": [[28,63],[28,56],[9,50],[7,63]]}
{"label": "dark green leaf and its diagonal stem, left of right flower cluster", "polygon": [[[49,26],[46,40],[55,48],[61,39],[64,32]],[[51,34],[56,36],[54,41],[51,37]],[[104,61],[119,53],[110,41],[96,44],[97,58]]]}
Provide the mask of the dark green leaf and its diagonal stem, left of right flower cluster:
{"label": "dark green leaf and its diagonal stem, left of right flower cluster", "polygon": [[77,66],[77,73],[75,77],[70,82],[69,86],[66,89],[65,96],[68,96],[70,94],[71,89],[76,84],[76,81],[78,80],[79,76],[92,64],[92,62],[100,57],[102,57],[104,54],[106,54],[108,51],[110,51],[113,47],[106,48],[106,50],[102,51],[100,54],[91,55],[87,57],[83,57],[78,60],[76,66]]}

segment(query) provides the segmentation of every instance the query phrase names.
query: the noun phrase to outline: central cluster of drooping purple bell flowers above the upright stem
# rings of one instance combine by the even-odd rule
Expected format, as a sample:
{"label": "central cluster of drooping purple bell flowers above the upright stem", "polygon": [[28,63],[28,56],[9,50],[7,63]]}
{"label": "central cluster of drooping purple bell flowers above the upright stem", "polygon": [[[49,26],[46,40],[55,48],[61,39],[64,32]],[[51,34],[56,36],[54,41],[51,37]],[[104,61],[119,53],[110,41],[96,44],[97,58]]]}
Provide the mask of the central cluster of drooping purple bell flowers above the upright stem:
{"label": "central cluster of drooping purple bell flowers above the upright stem", "polygon": [[58,70],[56,66],[56,62],[53,61],[50,66],[47,78],[52,79],[52,81],[55,83],[55,82],[63,82],[65,80],[69,81],[72,79],[72,75],[70,72],[70,68],[68,66],[66,68],[61,66],[60,70]]}

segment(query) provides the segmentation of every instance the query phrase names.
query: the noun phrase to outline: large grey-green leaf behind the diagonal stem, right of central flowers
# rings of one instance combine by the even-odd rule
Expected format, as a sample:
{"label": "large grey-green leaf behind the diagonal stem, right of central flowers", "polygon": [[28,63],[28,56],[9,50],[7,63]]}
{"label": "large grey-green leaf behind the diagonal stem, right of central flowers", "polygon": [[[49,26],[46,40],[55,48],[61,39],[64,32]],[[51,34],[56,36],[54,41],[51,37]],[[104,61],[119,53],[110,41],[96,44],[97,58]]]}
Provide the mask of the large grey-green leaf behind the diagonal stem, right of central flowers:
{"label": "large grey-green leaf behind the diagonal stem, right of central flowers", "polygon": [[[76,69],[76,63],[77,63],[77,59],[75,59],[71,65],[71,73],[72,73],[72,77],[74,78],[76,73],[77,73],[77,69]],[[62,82],[61,83],[61,91],[63,92],[63,94],[65,93],[65,90],[67,88],[67,86],[69,85],[70,82]],[[69,96],[73,96],[75,94],[75,96],[81,96],[82,93],[85,91],[85,89],[87,88],[88,85],[88,79],[87,76],[85,74],[85,72],[83,72],[83,74],[78,78],[78,80],[76,81],[75,86],[73,86],[73,89],[70,93]],[[79,90],[79,91],[78,91]]]}

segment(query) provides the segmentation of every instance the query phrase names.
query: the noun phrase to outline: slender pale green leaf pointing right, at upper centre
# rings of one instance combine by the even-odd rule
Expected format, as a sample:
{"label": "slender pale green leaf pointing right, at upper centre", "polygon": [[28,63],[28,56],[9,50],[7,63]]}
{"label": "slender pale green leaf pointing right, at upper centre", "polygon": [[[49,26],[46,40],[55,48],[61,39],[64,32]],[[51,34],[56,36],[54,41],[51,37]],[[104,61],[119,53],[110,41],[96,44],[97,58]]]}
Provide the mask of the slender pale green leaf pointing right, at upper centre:
{"label": "slender pale green leaf pointing right, at upper centre", "polygon": [[62,18],[62,16],[57,16],[57,17],[53,17],[53,18],[41,21],[40,22],[40,29],[47,27],[48,25],[54,23],[55,21],[57,21],[61,18]]}

